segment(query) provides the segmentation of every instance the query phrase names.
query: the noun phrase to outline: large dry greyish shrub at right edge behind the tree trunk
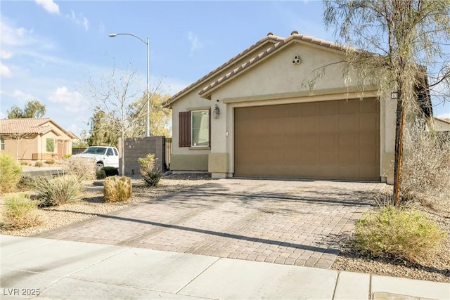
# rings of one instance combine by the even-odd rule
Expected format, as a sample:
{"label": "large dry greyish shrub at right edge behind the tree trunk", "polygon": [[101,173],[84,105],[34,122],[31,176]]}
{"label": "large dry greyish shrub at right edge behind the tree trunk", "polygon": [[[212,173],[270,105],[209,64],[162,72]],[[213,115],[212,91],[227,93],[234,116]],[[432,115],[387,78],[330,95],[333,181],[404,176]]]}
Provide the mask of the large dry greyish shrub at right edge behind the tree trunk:
{"label": "large dry greyish shrub at right edge behind the tree trunk", "polygon": [[423,128],[416,122],[404,133],[401,195],[428,204],[450,201],[450,135]]}

